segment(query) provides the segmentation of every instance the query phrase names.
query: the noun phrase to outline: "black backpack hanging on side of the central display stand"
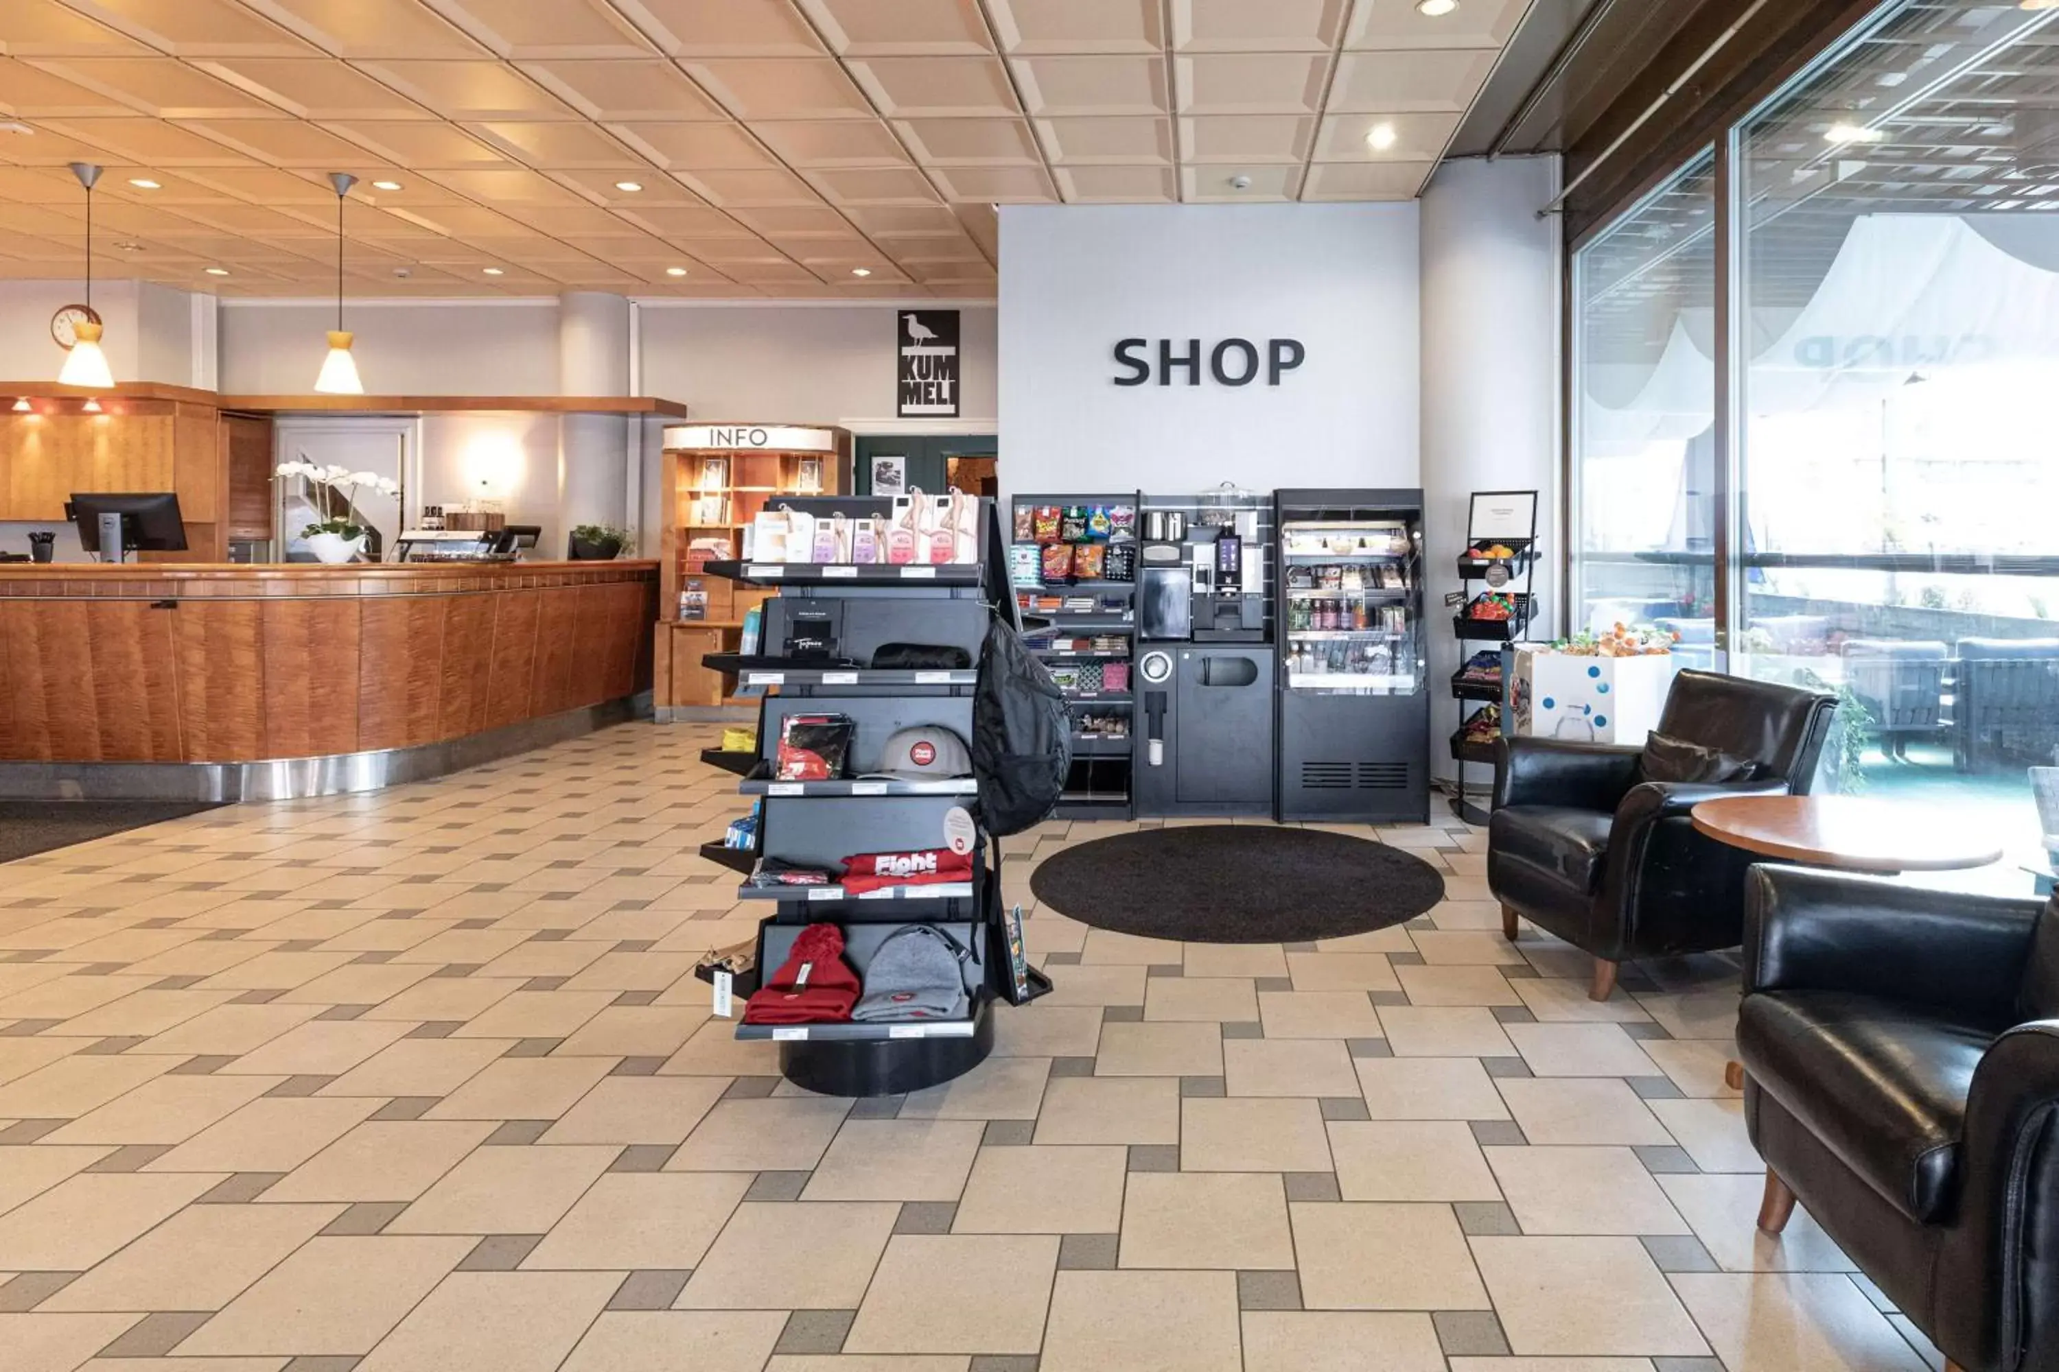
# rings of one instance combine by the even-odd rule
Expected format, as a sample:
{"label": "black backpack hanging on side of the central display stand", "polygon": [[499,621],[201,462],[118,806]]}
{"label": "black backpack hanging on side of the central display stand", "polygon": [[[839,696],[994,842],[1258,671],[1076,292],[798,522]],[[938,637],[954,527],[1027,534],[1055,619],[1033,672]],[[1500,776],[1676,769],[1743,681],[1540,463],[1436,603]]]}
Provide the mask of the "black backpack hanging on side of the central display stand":
{"label": "black backpack hanging on side of the central display stand", "polygon": [[972,775],[980,827],[1021,833],[1058,808],[1073,769],[1073,716],[1050,673],[1023,648],[1021,634],[994,619],[980,646],[972,691]]}

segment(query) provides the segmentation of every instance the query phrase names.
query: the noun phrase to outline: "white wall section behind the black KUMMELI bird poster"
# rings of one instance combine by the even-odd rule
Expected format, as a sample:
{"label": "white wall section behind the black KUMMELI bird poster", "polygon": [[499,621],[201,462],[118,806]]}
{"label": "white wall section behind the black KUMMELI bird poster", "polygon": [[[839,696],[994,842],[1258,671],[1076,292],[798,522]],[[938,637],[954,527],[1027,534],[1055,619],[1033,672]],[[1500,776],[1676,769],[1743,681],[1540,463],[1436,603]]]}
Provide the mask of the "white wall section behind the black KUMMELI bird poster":
{"label": "white wall section behind the black KUMMELI bird poster", "polygon": [[999,315],[957,309],[959,420],[894,418],[896,304],[644,302],[642,393],[686,401],[704,420],[988,434],[1001,413]]}

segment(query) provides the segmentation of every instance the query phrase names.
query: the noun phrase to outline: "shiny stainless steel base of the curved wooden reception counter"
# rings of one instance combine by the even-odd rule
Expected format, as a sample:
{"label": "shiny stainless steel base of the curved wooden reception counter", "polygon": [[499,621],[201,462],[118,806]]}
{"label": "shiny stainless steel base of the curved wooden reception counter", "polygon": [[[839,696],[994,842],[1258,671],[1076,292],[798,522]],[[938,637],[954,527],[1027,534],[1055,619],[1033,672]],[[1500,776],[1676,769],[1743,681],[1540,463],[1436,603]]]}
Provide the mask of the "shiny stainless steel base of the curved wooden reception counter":
{"label": "shiny stainless steel base of the curved wooden reception counter", "polygon": [[0,763],[0,800],[303,800],[383,790],[651,716],[651,693],[414,749],[264,763]]}

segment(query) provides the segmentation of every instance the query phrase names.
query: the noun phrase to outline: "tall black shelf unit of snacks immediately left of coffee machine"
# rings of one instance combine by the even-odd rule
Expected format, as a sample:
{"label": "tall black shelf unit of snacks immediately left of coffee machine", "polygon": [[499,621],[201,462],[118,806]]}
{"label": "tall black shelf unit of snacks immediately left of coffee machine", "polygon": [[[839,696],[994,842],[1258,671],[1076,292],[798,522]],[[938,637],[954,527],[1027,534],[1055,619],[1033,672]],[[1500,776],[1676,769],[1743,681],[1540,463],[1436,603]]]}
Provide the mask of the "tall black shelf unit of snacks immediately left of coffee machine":
{"label": "tall black shelf unit of snacks immediately left of coffee machine", "polygon": [[[1073,539],[1075,545],[1100,545],[1122,549],[1130,559],[1128,578],[1087,576],[1046,580],[1042,564],[1042,543],[1036,539],[1036,510],[1128,510],[1128,520],[1120,531],[1110,529],[1106,539]],[[1027,646],[1038,658],[1060,669],[1058,685],[1065,703],[1073,712],[1073,769],[1067,775],[1065,796],[1058,802],[1058,819],[1130,819],[1135,738],[1112,738],[1104,732],[1083,728],[1081,714],[1108,710],[1130,716],[1135,703],[1128,691],[1069,687],[1067,677],[1081,679],[1079,669],[1091,669],[1106,679],[1110,666],[1120,666],[1124,677],[1135,671],[1137,658],[1137,555],[1139,555],[1139,492],[1118,494],[1042,494],[1015,496],[1011,508],[1011,580],[1017,609],[1027,621]],[[1027,525],[1023,520],[1030,520]],[[1060,516],[1062,520],[1062,516]],[[1060,535],[1065,533],[1060,525]],[[1027,537],[1025,537],[1027,535]],[[1067,539],[1060,539],[1067,541]],[[1030,562],[1030,553],[1036,562]],[[1108,553],[1104,551],[1104,557]],[[1048,603],[1056,601],[1056,607]],[[1085,605],[1089,603],[1091,605]],[[1079,605],[1079,609],[1065,609]],[[1120,638],[1110,646],[1077,646],[1075,640]],[[1067,646],[1056,646],[1067,644]],[[1130,726],[1130,734],[1135,734]]]}

